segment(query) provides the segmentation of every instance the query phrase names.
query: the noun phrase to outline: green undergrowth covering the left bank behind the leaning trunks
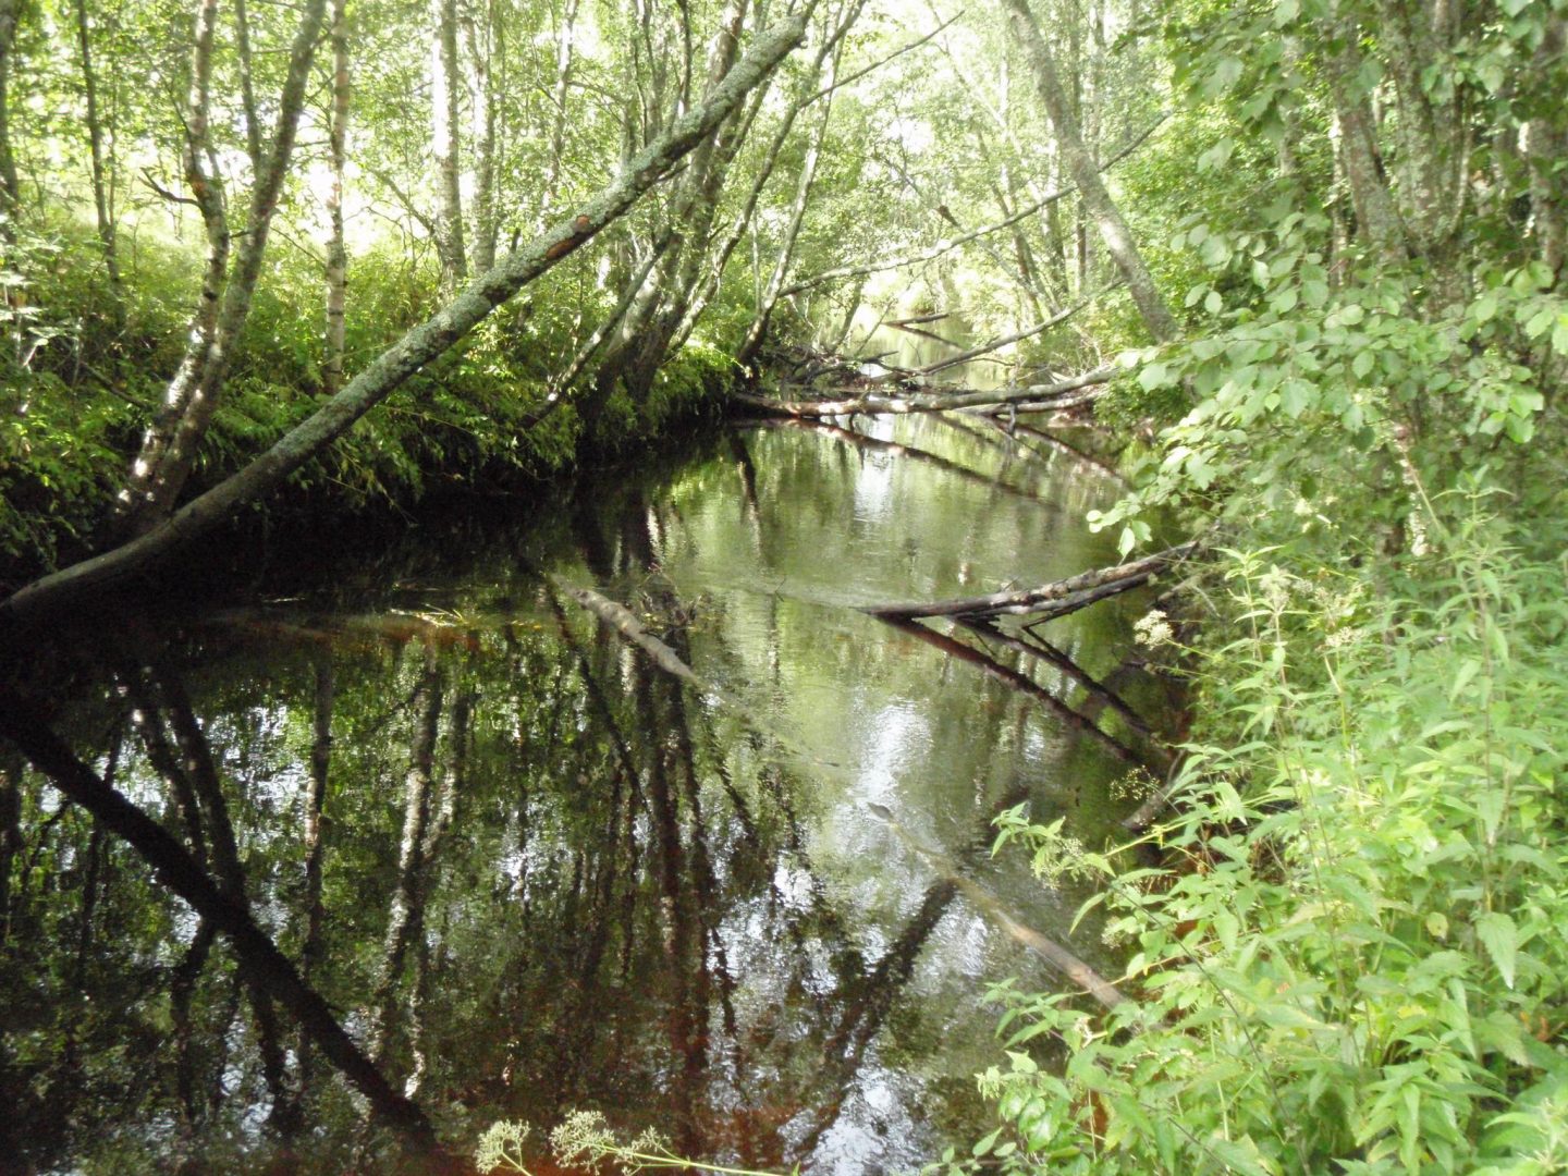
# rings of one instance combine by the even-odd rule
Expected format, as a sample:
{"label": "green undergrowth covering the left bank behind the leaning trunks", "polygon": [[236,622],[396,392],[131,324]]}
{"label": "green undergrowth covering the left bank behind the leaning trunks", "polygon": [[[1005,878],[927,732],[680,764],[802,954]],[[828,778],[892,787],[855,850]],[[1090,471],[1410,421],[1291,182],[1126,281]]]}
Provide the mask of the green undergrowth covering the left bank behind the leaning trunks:
{"label": "green undergrowth covering the left bank behind the leaning trunks", "polygon": [[[0,579],[86,555],[119,491],[141,431],[180,361],[196,259],[179,248],[125,248],[124,326],[85,263],[89,232],[61,223],[22,227],[6,249],[0,328]],[[433,278],[370,257],[356,287],[350,370],[433,310]],[[290,483],[268,510],[354,511],[406,505],[437,488],[544,478],[585,453],[615,453],[657,437],[713,405],[734,364],[693,342],[654,378],[644,398],[622,389],[585,420],[549,384],[572,347],[575,317],[602,314],[602,292],[546,292],[506,307],[467,343],[409,379],[381,412]],[[320,299],[309,260],[279,254],[260,287],[245,345],[202,448],[194,486],[210,486],[270,447],[321,405]],[[590,306],[583,306],[583,299]]]}

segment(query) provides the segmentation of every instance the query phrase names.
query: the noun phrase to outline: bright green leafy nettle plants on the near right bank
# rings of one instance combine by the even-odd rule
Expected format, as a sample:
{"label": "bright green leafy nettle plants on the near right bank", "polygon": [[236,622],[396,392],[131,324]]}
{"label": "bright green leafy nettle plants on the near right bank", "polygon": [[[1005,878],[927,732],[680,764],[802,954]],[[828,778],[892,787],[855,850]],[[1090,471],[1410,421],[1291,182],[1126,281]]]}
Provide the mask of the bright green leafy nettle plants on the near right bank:
{"label": "bright green leafy nettle plants on the near right bank", "polygon": [[[1391,582],[1226,554],[1162,864],[1071,864],[1140,999],[996,988],[1002,1123],[939,1167],[1568,1168],[1565,566],[1463,502]],[[1063,869],[1022,814],[1004,840]]]}

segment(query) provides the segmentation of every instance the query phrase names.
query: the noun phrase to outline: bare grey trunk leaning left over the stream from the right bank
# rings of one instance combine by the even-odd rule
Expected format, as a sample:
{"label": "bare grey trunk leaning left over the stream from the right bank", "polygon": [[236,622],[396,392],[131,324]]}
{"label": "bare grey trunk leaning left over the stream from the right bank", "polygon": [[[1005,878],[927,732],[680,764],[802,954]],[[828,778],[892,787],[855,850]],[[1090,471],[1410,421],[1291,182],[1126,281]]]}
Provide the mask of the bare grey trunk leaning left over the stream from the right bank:
{"label": "bare grey trunk leaning left over the stream from the right bank", "polygon": [[1143,323],[1149,328],[1149,334],[1154,336],[1156,342],[1167,343],[1178,334],[1176,318],[1171,315],[1170,307],[1165,306],[1159,287],[1154,285],[1154,276],[1143,263],[1143,254],[1138,252],[1127,223],[1121,218],[1121,210],[1110,198],[1110,190],[1105,188],[1105,180],[1099,174],[1099,165],[1094,163],[1094,157],[1083,144],[1077,116],[1073,111],[1073,103],[1068,100],[1066,91],[1062,88],[1062,77],[1057,72],[1051,47],[1040,34],[1040,27],[1029,11],[1027,0],[1004,0],[1004,3],[1011,17],[1013,31],[1024,45],[1024,56],[1035,74],[1040,100],[1051,118],[1051,129],[1055,132],[1057,146],[1062,151],[1068,172],[1073,176],[1073,183],[1077,185],[1083,209],[1099,229],[1101,240],[1105,243],[1105,252],[1110,254],[1116,268],[1121,270],[1123,278],[1127,279],[1132,301],[1137,304],[1138,314],[1143,315]]}

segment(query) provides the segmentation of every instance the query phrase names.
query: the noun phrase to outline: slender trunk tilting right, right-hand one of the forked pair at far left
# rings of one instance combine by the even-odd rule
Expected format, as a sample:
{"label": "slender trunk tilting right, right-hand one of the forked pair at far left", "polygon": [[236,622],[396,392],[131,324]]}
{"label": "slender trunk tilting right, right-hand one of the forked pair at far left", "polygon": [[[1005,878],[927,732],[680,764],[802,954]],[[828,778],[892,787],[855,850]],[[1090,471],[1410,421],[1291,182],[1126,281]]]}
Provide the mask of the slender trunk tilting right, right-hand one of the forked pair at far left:
{"label": "slender trunk tilting right, right-hand one of the forked pair at far left", "polygon": [[251,188],[246,230],[238,234],[240,246],[234,257],[234,273],[223,292],[223,307],[218,312],[212,345],[205,350],[201,376],[185,401],[168,448],[157,467],[147,472],[147,489],[132,516],[132,527],[136,532],[157,527],[174,508],[176,499],[196,466],[196,452],[207,436],[213,412],[218,411],[223,379],[234,359],[245,320],[251,314],[256,282],[262,276],[267,235],[293,157],[295,133],[299,129],[299,113],[304,110],[310,64],[315,60],[315,45],[325,16],[326,0],[307,0],[289,52],[289,72],[278,103],[278,130],[273,135],[262,171]]}

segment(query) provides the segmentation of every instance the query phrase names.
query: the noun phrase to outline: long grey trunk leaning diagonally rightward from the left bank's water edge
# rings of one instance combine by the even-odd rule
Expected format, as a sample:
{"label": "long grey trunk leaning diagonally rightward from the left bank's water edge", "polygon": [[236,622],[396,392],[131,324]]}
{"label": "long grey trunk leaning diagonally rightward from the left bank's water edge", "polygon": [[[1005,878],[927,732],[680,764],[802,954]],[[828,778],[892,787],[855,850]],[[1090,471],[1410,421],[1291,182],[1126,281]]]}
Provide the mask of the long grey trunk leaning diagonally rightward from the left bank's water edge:
{"label": "long grey trunk leaning diagonally rightward from the left bank's water edge", "polygon": [[593,237],[718,127],[740,100],[800,44],[811,14],[779,22],[753,44],[709,97],[676,119],[668,133],[627,162],[626,169],[572,220],[560,221],[530,245],[513,251],[452,303],[376,358],[310,417],[285,433],[249,466],[188,502],[151,532],[103,555],[45,575],[0,604],[0,621],[36,619],[94,588],[132,577],[179,546],[227,521],[241,505],[271,492],[310,458],[347,433],[405,379],[444,354],[497,306]]}

